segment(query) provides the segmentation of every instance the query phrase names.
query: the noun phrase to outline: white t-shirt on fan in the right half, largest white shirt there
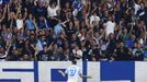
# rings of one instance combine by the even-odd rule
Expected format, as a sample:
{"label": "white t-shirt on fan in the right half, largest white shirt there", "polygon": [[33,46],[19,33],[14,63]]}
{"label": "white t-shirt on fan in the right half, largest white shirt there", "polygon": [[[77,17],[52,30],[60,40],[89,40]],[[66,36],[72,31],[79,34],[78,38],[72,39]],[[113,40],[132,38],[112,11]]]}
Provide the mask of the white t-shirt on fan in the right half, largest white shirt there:
{"label": "white t-shirt on fan in the right half, largest white shirt there", "polygon": [[110,35],[111,33],[114,34],[115,23],[113,23],[112,21],[108,21],[105,23],[105,26],[106,26],[106,35]]}

